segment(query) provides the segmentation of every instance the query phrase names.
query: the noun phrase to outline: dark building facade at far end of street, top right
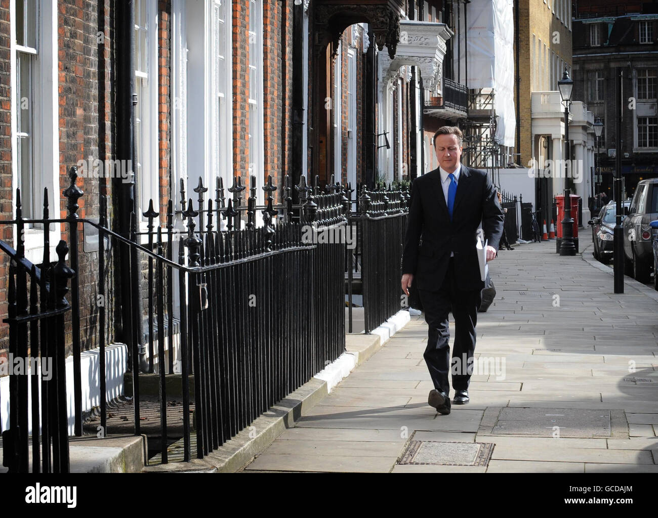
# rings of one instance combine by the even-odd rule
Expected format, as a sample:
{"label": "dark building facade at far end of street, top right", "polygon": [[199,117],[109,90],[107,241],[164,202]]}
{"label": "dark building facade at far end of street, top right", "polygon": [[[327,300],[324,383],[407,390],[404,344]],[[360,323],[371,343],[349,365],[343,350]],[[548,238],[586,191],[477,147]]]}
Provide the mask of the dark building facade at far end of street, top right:
{"label": "dark building facade at far end of street, top right", "polygon": [[[658,176],[658,3],[579,1],[574,12],[574,95],[603,122],[596,143],[601,175],[595,190],[614,199],[621,155],[624,199],[638,181]],[[622,74],[622,97],[617,78]],[[617,108],[621,149],[617,149]]]}

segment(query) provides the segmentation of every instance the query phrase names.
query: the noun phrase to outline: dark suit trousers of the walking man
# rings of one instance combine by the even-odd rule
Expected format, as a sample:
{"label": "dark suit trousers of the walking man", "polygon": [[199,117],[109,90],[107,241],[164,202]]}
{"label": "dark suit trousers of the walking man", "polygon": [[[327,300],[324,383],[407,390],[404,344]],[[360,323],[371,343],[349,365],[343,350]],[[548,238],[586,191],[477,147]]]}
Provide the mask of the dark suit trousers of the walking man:
{"label": "dark suit trousers of the walking man", "polygon": [[[434,388],[447,396],[450,393],[449,373],[452,374],[455,390],[467,390],[472,373],[475,351],[475,326],[478,321],[478,308],[482,304],[482,291],[463,291],[455,283],[454,258],[445,273],[439,291],[418,289],[420,301],[427,322],[427,348],[423,357]],[[452,362],[450,356],[450,330],[448,314],[455,319],[455,342]]]}

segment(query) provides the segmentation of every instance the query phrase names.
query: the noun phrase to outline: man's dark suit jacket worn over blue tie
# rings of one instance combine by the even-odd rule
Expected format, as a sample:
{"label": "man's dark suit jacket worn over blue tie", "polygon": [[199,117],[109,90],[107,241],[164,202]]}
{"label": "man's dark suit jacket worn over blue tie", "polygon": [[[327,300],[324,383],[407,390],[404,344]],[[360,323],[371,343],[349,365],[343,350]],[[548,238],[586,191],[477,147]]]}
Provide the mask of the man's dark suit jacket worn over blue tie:
{"label": "man's dark suit jacket worn over blue tie", "polygon": [[462,164],[455,194],[453,221],[443,197],[438,169],[411,184],[411,206],[402,256],[402,273],[413,273],[415,289],[438,291],[455,253],[455,276],[460,290],[481,290],[476,252],[477,229],[498,249],[503,233],[503,210],[486,172]]}

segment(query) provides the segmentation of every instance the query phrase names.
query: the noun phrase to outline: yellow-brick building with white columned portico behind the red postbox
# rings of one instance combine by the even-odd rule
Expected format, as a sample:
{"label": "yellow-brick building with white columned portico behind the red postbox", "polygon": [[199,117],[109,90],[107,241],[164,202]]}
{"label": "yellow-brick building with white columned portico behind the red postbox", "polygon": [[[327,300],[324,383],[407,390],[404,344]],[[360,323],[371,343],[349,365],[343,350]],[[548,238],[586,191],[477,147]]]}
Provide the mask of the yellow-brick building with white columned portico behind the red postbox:
{"label": "yellow-brick building with white columned portico behind the red postbox", "polygon": [[[565,105],[558,82],[572,77],[573,6],[569,0],[519,1],[515,9],[517,160],[534,178],[534,210],[540,225],[551,223],[553,197],[566,187],[582,199],[582,220],[590,219],[594,195],[594,118],[574,88],[569,106],[569,145]],[[568,153],[568,154],[567,154]],[[555,222],[557,224],[557,222]]]}

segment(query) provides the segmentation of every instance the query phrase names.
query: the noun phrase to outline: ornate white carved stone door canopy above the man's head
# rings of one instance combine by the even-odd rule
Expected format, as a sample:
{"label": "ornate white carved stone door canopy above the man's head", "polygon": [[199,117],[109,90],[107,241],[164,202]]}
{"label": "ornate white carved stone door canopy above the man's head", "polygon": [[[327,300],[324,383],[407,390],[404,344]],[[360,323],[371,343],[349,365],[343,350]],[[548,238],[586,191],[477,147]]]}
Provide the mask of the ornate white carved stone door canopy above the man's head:
{"label": "ornate white carved stone door canopy above the man's head", "polygon": [[388,53],[380,53],[382,80],[397,75],[401,66],[417,66],[420,76],[428,87],[441,82],[445,42],[453,32],[445,24],[400,20],[400,40],[395,51],[395,59]]}

